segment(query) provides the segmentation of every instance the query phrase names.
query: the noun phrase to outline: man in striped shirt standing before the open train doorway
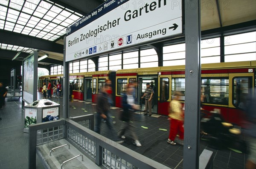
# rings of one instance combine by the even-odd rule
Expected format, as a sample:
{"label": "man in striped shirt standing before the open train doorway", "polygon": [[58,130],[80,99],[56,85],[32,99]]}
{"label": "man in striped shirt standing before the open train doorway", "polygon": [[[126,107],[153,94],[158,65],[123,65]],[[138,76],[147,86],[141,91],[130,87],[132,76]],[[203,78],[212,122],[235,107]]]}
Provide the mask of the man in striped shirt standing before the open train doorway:
{"label": "man in striped shirt standing before the open train doorway", "polygon": [[145,93],[141,97],[145,97],[145,113],[144,116],[148,114],[148,116],[152,115],[152,109],[151,109],[151,104],[152,104],[152,97],[154,94],[154,90],[150,87],[150,83],[146,83],[147,88],[145,89]]}

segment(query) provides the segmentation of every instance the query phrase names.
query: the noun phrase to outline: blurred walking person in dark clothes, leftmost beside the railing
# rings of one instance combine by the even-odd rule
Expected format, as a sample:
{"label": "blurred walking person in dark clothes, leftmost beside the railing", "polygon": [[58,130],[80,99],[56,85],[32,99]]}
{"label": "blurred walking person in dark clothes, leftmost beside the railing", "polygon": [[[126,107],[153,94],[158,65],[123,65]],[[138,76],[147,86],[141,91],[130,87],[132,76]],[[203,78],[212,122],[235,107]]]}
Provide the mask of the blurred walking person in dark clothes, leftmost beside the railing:
{"label": "blurred walking person in dark clothes, leftmost beside the railing", "polygon": [[[113,125],[111,123],[111,117],[110,117],[110,105],[108,102],[108,90],[111,89],[111,86],[109,86],[109,83],[105,83],[105,85],[102,87],[102,90],[99,91],[98,97],[97,97],[97,114],[96,114],[96,124],[94,132],[100,134],[100,126],[101,126],[101,120],[102,118],[106,120],[106,124],[108,126],[108,129],[111,131],[111,137],[112,140],[118,140],[117,133],[113,129]],[[114,134],[115,133],[115,134]],[[122,143],[123,141],[118,141],[119,143]]]}

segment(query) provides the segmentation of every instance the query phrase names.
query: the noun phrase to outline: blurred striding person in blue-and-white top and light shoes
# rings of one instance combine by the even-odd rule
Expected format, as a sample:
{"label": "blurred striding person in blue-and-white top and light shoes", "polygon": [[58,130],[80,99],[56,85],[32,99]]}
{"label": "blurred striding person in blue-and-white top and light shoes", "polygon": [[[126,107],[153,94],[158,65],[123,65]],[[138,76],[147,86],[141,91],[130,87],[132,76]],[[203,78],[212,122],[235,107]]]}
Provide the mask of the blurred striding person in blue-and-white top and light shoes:
{"label": "blurred striding person in blue-and-white top and light shoes", "polygon": [[128,84],[126,94],[124,95],[122,100],[123,112],[121,115],[121,120],[124,121],[125,123],[122,123],[120,130],[118,132],[118,136],[121,138],[125,138],[124,136],[125,132],[126,131],[130,132],[131,138],[133,139],[132,143],[135,146],[140,147],[141,143],[134,132],[135,127],[131,125],[131,120],[132,120],[134,111],[140,109],[140,106],[135,104],[133,91],[134,91],[133,84]]}

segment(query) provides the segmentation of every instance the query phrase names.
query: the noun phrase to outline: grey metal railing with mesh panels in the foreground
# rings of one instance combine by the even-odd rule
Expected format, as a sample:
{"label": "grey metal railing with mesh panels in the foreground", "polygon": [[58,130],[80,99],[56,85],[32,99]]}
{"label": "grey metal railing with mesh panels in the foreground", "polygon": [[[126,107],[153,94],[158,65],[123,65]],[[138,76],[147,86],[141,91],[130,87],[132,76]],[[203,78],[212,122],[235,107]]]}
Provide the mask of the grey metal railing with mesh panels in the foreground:
{"label": "grey metal railing with mesh panels in the foreground", "polygon": [[[81,153],[98,166],[106,169],[121,168],[147,168],[147,169],[169,169],[150,158],[147,158],[131,149],[122,146],[113,140],[93,132],[79,124],[79,121],[93,122],[93,114],[73,117],[66,120],[55,120],[38,123],[29,126],[29,169],[36,166],[36,146],[65,138]],[[76,122],[78,121],[78,122]],[[85,122],[84,124],[86,124]],[[91,126],[91,127],[89,127]],[[64,132],[62,132],[64,131]],[[58,133],[60,134],[59,136]],[[63,137],[64,136],[64,137]],[[37,140],[37,141],[35,141]],[[38,141],[40,140],[40,141]]]}

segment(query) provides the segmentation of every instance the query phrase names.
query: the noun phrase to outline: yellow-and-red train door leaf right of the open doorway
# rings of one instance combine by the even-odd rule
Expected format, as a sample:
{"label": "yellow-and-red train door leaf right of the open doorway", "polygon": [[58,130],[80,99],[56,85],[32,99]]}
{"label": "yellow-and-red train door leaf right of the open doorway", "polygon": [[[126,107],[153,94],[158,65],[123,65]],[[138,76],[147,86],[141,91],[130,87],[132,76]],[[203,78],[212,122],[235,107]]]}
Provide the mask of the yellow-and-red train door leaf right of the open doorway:
{"label": "yellow-and-red train door leaf right of the open doorway", "polygon": [[172,76],[171,75],[159,75],[158,76],[158,110],[159,115],[168,115],[168,106],[172,99],[171,86]]}

